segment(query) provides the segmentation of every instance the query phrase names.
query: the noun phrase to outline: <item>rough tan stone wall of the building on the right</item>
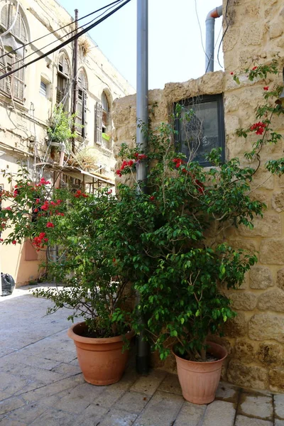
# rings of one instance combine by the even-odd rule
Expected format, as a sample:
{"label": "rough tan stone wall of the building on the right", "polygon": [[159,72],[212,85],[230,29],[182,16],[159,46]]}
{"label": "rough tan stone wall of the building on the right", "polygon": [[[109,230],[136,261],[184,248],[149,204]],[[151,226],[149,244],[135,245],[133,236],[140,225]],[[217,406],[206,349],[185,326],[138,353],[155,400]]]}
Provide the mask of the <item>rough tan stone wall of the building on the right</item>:
{"label": "rough tan stone wall of the building on the right", "polygon": [[[216,6],[219,6],[217,4]],[[226,10],[226,0],[223,11]],[[250,143],[236,136],[236,129],[247,128],[255,121],[255,108],[263,102],[263,86],[283,84],[282,72],[267,80],[250,82],[241,74],[241,84],[231,72],[241,72],[257,64],[269,63],[279,55],[280,71],[284,65],[284,9],[281,0],[229,1],[224,30],[224,71],[208,72],[197,80],[165,84],[148,96],[151,123],[168,121],[173,103],[202,97],[216,106],[213,121],[221,119],[224,128],[226,158],[244,158]],[[190,76],[189,76],[190,77]],[[153,105],[157,107],[153,109]],[[213,105],[213,104],[212,104]],[[217,104],[216,104],[217,105]],[[201,104],[202,106],[202,104]],[[154,111],[154,112],[152,112]],[[275,119],[275,130],[284,135],[283,116]],[[121,142],[133,144],[136,133],[136,97],[119,99],[114,104],[116,151]],[[220,136],[220,135],[219,135]],[[228,324],[223,342],[229,349],[224,379],[239,386],[284,391],[284,179],[264,170],[268,159],[283,157],[283,141],[263,150],[263,163],[254,180],[254,197],[266,203],[263,219],[253,230],[235,229],[229,241],[236,247],[258,252],[258,264],[251,268],[245,283],[230,294],[236,319]],[[171,368],[173,364],[165,365]]]}

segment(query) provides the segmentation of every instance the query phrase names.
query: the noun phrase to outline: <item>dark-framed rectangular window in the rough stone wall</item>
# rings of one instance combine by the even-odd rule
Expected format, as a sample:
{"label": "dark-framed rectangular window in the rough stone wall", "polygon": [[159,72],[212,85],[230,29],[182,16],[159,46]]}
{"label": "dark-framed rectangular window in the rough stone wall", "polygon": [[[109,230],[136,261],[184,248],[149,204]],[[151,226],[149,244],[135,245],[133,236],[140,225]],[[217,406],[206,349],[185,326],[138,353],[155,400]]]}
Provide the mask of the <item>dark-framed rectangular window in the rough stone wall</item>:
{"label": "dark-framed rectangular window in the rough stone wall", "polygon": [[205,156],[213,148],[222,148],[224,160],[224,110],[222,94],[186,99],[182,105],[181,119],[176,120],[178,131],[176,145],[187,158],[201,165],[209,163]]}

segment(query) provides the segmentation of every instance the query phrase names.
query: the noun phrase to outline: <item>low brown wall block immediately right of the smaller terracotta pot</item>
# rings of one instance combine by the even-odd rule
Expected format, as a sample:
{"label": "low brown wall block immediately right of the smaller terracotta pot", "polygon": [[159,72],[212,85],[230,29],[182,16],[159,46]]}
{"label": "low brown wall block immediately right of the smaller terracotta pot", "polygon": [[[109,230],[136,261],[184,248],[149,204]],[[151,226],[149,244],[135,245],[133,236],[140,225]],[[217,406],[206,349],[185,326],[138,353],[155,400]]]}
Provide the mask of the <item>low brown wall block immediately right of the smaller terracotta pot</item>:
{"label": "low brown wall block immediately right of the smaller terracotta pot", "polygon": [[232,359],[227,370],[228,380],[238,386],[254,389],[267,389],[268,372],[266,368],[246,366]]}

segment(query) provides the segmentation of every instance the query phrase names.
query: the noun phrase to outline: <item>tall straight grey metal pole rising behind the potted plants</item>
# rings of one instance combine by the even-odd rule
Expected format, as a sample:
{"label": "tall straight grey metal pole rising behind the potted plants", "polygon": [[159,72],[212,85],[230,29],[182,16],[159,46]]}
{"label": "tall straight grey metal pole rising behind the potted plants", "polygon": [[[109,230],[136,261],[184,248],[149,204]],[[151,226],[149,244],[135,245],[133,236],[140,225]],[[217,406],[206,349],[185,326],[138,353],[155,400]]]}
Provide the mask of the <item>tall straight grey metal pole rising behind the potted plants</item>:
{"label": "tall straight grey metal pole rising behind the potted plants", "polygon": [[[136,145],[144,150],[148,137],[148,0],[137,0],[137,89],[136,89]],[[143,127],[138,126],[142,124]],[[136,165],[136,177],[142,184],[138,190],[146,192],[147,168],[144,160]],[[140,302],[140,294],[136,293],[136,304]],[[145,319],[140,317],[141,328],[145,330]],[[145,332],[136,338],[136,371],[148,373],[150,348],[144,339]]]}

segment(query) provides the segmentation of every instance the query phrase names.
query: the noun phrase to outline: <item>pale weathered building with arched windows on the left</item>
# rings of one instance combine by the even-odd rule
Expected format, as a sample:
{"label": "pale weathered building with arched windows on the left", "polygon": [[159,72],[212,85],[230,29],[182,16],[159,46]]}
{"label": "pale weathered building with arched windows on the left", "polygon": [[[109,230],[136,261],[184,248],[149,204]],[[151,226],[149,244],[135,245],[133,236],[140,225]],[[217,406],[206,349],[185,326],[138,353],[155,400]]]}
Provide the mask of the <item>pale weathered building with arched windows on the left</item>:
{"label": "pale weathered building with arched windows on the left", "polygon": [[[70,38],[75,29],[72,21],[56,0],[0,0],[0,75]],[[114,184],[111,106],[114,99],[134,90],[89,36],[79,38],[78,45],[77,75],[74,45],[70,43],[0,80],[1,170],[16,174],[20,160],[35,180],[43,174],[45,178],[55,178],[59,153],[48,138],[48,123],[56,104],[72,111],[76,77],[77,136],[74,152],[65,146],[63,178],[72,178],[74,185],[83,182],[91,191]],[[11,190],[13,182],[0,178],[0,186]],[[37,278],[38,256],[30,243],[1,246],[0,256],[2,272],[10,273],[17,284]]]}

